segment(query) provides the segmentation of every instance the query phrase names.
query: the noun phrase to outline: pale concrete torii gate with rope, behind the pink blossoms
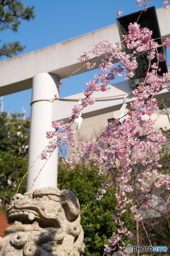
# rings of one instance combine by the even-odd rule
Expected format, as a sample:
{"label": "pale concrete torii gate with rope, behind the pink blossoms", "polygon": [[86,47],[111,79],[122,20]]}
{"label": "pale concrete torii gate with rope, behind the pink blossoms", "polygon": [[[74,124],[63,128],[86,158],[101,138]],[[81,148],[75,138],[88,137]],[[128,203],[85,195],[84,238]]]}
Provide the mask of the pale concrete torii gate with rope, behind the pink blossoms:
{"label": "pale concrete torii gate with rope, behind the pink blossoms", "polygon": [[[161,37],[170,37],[170,8],[156,10],[158,23],[161,31]],[[165,25],[166,24],[166,25]],[[102,40],[110,42],[120,42],[119,30],[117,24],[110,25],[87,33],[85,35],[60,42],[58,44],[45,47],[40,50],[29,52],[11,59],[0,61],[0,96],[32,88],[32,101],[41,99],[53,99],[54,95],[59,93],[56,83],[59,79],[66,78],[73,71],[81,67],[77,57],[83,51],[88,51],[94,47],[97,42]],[[93,57],[92,55],[90,56]],[[101,58],[95,59],[96,68]],[[113,63],[117,59],[113,60]],[[80,69],[76,74],[87,71]],[[87,106],[82,118],[88,118],[99,114],[119,110],[122,105],[122,96],[111,97],[113,95],[122,95],[132,92],[128,81],[114,84],[109,92],[96,92],[95,97],[109,97],[106,100],[97,100],[92,106]],[[78,93],[66,97],[67,99],[79,99],[83,93]],[[157,95],[158,99],[170,97],[166,89],[161,90]],[[129,95],[127,103],[133,101],[133,95]],[[71,113],[74,100],[55,100],[37,101],[31,106],[31,125],[28,167],[40,155],[47,145],[45,132],[51,129],[52,121],[68,121],[68,114]],[[35,181],[32,189],[54,186],[57,187],[57,150],[47,161],[42,169],[38,179]],[[27,178],[27,190],[31,187],[33,180],[43,166],[43,161],[39,158],[30,169]]]}

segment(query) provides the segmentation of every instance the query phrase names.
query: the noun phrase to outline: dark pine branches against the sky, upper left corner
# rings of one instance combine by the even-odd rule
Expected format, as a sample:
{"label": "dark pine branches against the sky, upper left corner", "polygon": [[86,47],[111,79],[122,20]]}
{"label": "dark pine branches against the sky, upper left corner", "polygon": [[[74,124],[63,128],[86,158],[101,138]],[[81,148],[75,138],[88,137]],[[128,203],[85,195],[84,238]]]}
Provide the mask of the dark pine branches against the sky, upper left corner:
{"label": "dark pine branches against the sky, upper left corner", "polygon": [[[11,29],[17,32],[21,19],[34,19],[35,13],[33,12],[34,6],[24,8],[24,5],[19,0],[0,0],[0,32],[4,29]],[[23,51],[25,46],[21,46],[20,42],[4,44],[0,48],[0,58],[5,55],[12,57],[18,52]]]}

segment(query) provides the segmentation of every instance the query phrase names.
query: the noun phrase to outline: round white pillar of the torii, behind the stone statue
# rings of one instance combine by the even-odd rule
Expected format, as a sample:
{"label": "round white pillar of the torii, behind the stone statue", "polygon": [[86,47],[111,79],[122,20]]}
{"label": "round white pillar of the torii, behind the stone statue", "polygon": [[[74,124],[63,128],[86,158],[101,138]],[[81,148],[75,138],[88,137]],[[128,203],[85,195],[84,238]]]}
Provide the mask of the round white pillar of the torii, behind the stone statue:
{"label": "round white pillar of the torii, behind the stone statue", "polygon": [[[38,73],[33,77],[32,81],[32,101],[41,99],[54,99],[54,95],[59,97],[56,83],[59,81],[58,76],[51,73]],[[33,164],[36,157],[48,145],[46,131],[53,131],[52,122],[52,102],[38,101],[31,105],[31,123],[30,123],[30,140],[28,153],[28,168]],[[40,157],[29,170],[27,177],[27,191],[33,184],[45,160]],[[43,167],[41,173],[36,179],[31,190],[36,188],[54,186],[57,187],[57,164],[58,149],[51,155],[47,163]]]}

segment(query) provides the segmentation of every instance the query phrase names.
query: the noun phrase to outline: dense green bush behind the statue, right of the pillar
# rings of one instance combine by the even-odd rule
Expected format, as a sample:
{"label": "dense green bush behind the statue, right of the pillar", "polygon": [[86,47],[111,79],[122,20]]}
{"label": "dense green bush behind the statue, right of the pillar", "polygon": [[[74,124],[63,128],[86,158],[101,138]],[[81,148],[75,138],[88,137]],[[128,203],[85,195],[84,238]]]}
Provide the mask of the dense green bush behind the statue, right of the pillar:
{"label": "dense green bush behind the statue, right of the pillar", "polygon": [[[61,158],[58,163],[58,184],[70,171],[70,167],[64,165]],[[80,203],[80,212],[87,206],[92,198],[98,192],[106,177],[98,175],[99,169],[89,162],[87,166],[78,165],[76,170],[64,180],[61,189],[69,189],[75,193]],[[113,179],[112,188],[107,189],[107,193],[100,201],[94,199],[90,205],[81,214],[81,225],[84,230],[84,243],[86,244],[84,256],[103,255],[104,244],[108,243],[108,239],[112,236],[112,232],[116,231],[116,226],[112,221],[112,215],[116,215],[115,210],[116,199],[113,196],[116,193],[115,182]],[[134,220],[129,209],[126,209],[123,221],[128,230],[133,230]],[[125,238],[126,245],[130,242],[127,236]]]}

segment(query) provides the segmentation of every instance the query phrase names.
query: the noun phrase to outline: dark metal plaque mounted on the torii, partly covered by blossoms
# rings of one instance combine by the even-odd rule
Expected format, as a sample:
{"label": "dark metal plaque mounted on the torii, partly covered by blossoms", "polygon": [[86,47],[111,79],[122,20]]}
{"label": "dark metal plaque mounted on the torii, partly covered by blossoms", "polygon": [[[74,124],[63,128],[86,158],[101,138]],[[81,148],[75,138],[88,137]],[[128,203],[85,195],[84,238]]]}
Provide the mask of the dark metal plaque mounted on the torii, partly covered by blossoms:
{"label": "dark metal plaque mounted on the torii, partly covered by blossoms", "polygon": [[[119,28],[119,34],[120,34],[120,38],[121,40],[123,40],[122,35],[128,35],[128,25],[129,23],[134,23],[137,21],[140,12],[136,12],[136,13],[132,13],[120,18],[117,18],[117,25]],[[149,30],[152,30],[152,38],[156,39],[155,41],[158,42],[159,45],[162,44],[162,39],[160,39],[161,34],[160,34],[160,30],[159,30],[159,24],[158,24],[158,19],[156,16],[156,9],[155,6],[150,7],[147,9],[146,12],[142,12],[142,14],[140,15],[140,18],[138,20],[138,24],[140,24],[141,28],[145,28],[147,27]],[[123,49],[127,54],[132,54],[134,49],[128,49],[126,43],[123,42],[123,45],[125,46],[125,48]],[[160,47],[158,48],[158,53],[160,52],[165,52],[164,47]],[[148,67],[149,67],[149,60],[147,59],[147,53],[144,53],[142,55],[140,55],[139,57],[136,58],[137,62],[138,62],[138,67],[136,70],[134,70],[134,77],[133,78],[129,78],[129,85],[130,87],[137,87],[139,86],[140,82],[143,82],[146,78],[146,72],[148,71]],[[151,60],[151,65],[154,62],[158,62],[158,60],[156,59],[156,57]],[[158,71],[158,76],[162,77],[163,73],[166,73],[167,70],[167,64],[166,64],[166,60],[159,62],[159,68],[161,68],[161,71]],[[152,68],[150,67],[149,72],[151,72]]]}

